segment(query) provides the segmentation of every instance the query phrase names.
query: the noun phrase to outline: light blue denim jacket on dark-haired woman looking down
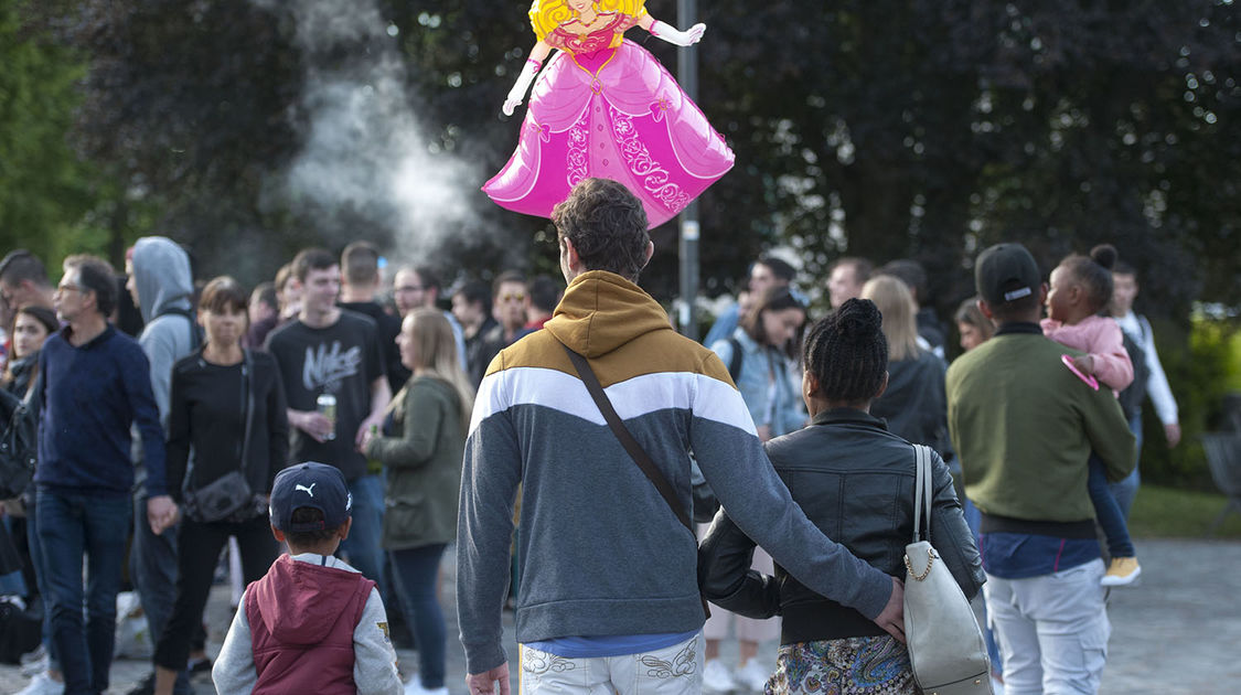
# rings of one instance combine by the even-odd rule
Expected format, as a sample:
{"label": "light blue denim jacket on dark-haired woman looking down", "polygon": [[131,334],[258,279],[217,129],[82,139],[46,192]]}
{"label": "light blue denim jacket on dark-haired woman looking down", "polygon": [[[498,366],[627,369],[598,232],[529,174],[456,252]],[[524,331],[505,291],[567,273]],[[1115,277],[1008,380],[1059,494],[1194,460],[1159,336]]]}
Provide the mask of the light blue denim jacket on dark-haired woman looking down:
{"label": "light blue denim jacket on dark-haired woman looking down", "polygon": [[[779,350],[759,345],[738,328],[732,338],[741,344],[741,372],[737,391],[741,391],[755,427],[767,424],[772,437],[788,434],[805,426],[805,407],[802,402],[800,375],[794,375],[788,359]],[[720,356],[725,366],[732,364],[732,343],[716,341],[711,351]]]}

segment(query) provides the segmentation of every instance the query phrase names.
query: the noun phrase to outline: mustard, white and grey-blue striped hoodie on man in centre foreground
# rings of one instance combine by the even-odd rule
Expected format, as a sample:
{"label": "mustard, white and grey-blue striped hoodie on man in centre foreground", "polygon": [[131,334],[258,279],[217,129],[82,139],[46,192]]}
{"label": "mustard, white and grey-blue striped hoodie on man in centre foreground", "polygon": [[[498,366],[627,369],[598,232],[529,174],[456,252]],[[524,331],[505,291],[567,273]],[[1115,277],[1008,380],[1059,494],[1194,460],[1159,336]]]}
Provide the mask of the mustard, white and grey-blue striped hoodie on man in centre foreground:
{"label": "mustard, white and grey-blue striped hoodie on man in centre foreground", "polygon": [[561,341],[591,361],[686,509],[692,451],[728,515],[789,573],[867,618],[884,609],[891,580],[792,501],[719,357],[676,334],[638,285],[591,271],[570,283],[544,330],[496,355],[479,386],[457,531],[468,673],[505,661],[500,612],[519,483],[519,642],[704,622],[692,534],[608,428]]}

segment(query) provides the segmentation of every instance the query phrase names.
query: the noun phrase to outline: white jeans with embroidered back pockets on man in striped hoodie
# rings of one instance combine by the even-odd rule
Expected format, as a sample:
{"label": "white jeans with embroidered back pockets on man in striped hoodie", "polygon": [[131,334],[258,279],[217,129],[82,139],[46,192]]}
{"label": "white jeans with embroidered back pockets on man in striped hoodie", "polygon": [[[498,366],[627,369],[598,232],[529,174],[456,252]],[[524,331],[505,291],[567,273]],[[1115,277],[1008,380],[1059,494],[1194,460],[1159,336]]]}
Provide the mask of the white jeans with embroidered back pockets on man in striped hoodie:
{"label": "white jeans with embroidered back pockets on man in striped hoodie", "polygon": [[643,654],[570,659],[521,645],[521,695],[697,695],[702,633]]}

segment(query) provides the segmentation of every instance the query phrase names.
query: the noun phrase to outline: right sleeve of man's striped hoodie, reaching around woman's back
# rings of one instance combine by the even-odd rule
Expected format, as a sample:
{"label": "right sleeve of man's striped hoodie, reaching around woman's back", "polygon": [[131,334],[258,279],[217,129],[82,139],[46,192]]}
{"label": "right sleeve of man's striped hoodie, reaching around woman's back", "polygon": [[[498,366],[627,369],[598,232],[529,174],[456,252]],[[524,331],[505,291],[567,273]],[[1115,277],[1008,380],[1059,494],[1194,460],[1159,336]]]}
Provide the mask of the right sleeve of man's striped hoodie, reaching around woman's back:
{"label": "right sleeve of man's striped hoodie, reaching around woman's back", "polygon": [[695,398],[690,442],[728,518],[803,585],[874,619],[892,593],[891,577],[807,519],[767,459],[753,422],[741,417],[748,413],[741,393],[705,385],[709,392]]}

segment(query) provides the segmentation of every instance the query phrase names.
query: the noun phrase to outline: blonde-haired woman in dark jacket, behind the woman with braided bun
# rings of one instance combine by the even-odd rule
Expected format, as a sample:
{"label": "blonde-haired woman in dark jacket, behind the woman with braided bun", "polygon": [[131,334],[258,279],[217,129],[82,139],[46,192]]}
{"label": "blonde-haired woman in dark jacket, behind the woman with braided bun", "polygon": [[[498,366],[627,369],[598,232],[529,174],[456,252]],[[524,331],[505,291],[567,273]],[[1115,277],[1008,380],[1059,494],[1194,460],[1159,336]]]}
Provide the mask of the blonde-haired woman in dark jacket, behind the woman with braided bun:
{"label": "blonde-haired woman in dark jacket, behind the woman with braided bun", "polygon": [[948,366],[918,345],[913,294],[892,276],[877,276],[861,288],[884,315],[889,346],[887,390],[871,405],[871,413],[887,419],[887,428],[916,444],[927,444],[951,459],[948,402],[943,377]]}

